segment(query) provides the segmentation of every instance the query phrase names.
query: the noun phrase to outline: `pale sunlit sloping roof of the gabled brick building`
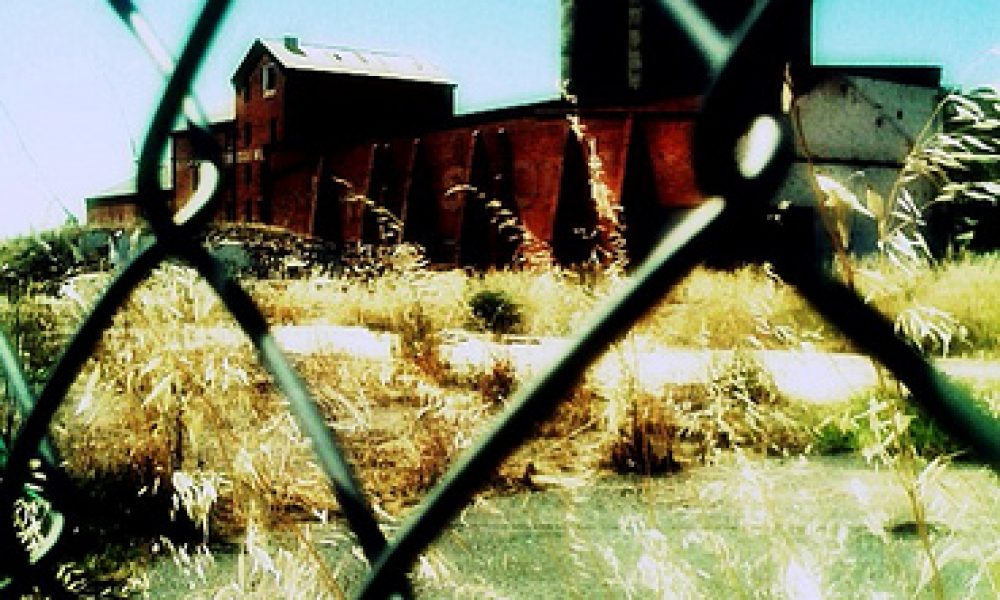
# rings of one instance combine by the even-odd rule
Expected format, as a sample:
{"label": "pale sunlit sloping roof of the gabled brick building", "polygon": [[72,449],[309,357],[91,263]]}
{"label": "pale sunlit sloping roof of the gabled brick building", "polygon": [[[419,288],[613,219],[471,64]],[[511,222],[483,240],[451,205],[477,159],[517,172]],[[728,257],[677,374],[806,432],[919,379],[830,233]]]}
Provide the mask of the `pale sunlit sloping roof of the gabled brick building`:
{"label": "pale sunlit sloping roof of the gabled brick building", "polygon": [[313,71],[340,75],[361,75],[387,79],[406,79],[443,85],[454,85],[436,66],[409,56],[392,52],[358,50],[342,46],[300,43],[295,38],[256,40],[243,62],[233,74],[233,82],[241,81],[261,54],[268,54],[282,68],[293,71]]}

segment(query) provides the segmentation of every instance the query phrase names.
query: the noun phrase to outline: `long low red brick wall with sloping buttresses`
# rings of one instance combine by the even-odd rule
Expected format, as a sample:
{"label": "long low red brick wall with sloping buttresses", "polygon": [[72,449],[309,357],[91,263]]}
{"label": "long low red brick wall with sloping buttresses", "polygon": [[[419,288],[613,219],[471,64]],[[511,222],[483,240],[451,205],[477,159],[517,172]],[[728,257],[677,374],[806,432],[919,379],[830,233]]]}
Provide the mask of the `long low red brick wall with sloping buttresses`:
{"label": "long low red brick wall with sloping buttresses", "polygon": [[[495,264],[510,257],[503,247],[509,232],[492,224],[499,206],[532,237],[557,245],[573,243],[560,227],[571,237],[595,227],[596,217],[582,213],[598,212],[592,200],[598,182],[605,186],[605,212],[630,189],[629,202],[642,214],[634,221],[662,221],[662,211],[646,209],[698,201],[688,108],[585,112],[582,140],[566,112],[526,108],[420,137],[344,146],[322,153],[322,164],[316,154],[275,150],[267,153],[263,171],[271,222],[347,244],[378,243],[383,239],[371,207],[353,199],[362,195],[402,221],[403,238],[425,245],[432,260]],[[649,185],[628,187],[628,177]],[[572,208],[560,212],[563,205]],[[567,218],[572,223],[561,225]]]}

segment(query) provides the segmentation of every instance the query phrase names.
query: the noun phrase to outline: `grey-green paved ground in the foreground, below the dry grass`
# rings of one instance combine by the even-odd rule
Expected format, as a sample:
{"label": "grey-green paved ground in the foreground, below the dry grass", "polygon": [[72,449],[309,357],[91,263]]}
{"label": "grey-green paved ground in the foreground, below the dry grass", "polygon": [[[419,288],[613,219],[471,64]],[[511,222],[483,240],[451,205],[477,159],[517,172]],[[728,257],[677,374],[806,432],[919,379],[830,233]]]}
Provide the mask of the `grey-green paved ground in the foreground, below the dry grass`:
{"label": "grey-green paved ground in the foreground, below the dry grass", "polygon": [[[921,485],[945,597],[1000,597],[997,475],[960,465]],[[350,597],[365,569],[350,536],[335,524],[306,529],[316,553],[300,563],[323,561]],[[255,563],[237,547],[213,554],[201,578],[158,560],[150,597],[210,598]],[[734,459],[482,499],[415,572],[421,598],[933,597],[897,474],[846,458]]]}

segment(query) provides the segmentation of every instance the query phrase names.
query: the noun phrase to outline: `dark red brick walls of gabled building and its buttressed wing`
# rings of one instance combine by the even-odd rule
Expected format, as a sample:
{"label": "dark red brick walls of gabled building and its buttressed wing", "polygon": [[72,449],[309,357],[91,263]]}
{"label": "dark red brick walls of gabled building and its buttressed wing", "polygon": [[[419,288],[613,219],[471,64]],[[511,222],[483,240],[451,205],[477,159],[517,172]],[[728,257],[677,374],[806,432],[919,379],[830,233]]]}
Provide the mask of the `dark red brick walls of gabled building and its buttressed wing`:
{"label": "dark red brick walls of gabled building and its buttressed wing", "polygon": [[[694,99],[582,113],[555,101],[453,117],[450,83],[301,71],[274,48],[254,45],[233,78],[236,118],[214,126],[229,160],[219,219],[345,246],[401,237],[436,262],[486,266],[515,250],[510,232],[491,223],[492,200],[566,260],[586,259],[600,241],[583,234],[609,217],[592,200],[598,183],[611,206],[631,203],[637,215],[697,201],[687,139]],[[174,149],[180,205],[197,161],[183,133]],[[627,185],[633,172],[645,183]]]}

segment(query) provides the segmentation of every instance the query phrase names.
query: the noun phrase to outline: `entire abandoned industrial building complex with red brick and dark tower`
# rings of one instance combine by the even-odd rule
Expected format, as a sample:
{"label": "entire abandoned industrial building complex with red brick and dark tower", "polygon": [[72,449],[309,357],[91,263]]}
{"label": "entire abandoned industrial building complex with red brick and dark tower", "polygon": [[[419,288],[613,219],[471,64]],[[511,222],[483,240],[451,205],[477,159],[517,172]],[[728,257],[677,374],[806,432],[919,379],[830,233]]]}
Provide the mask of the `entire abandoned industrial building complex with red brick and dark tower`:
{"label": "entire abandoned industrial building complex with red brick and dark tower", "polygon": [[[726,33],[752,4],[704,3]],[[789,15],[802,32],[789,73],[810,91],[782,199],[822,244],[806,163],[841,180],[864,171],[886,193],[934,113],[940,69],[814,67],[802,5]],[[654,0],[564,0],[563,10],[568,95],[465,115],[454,114],[455,84],[419,59],[255,41],[233,75],[235,118],[211,126],[225,156],[217,219],[345,248],[412,241],[433,262],[479,268],[510,264],[529,242],[562,264],[599,258],[615,231],[641,257],[671,210],[700,200],[688,143],[707,69]],[[198,168],[188,133],[174,132],[175,208]],[[137,214],[128,204],[92,198],[88,222],[120,226]]]}

